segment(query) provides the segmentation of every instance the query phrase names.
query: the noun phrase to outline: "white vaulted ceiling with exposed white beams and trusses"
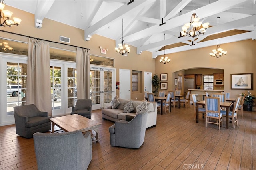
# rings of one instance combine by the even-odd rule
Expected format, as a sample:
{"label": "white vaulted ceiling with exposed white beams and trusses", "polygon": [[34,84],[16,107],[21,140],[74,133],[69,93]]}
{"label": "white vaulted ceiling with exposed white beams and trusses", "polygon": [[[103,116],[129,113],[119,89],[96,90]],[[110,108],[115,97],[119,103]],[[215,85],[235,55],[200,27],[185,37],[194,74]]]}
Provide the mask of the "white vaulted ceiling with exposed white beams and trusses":
{"label": "white vaulted ceiling with exposed white beams and trusses", "polygon": [[[187,45],[166,49],[174,53],[217,45],[217,40],[202,41],[207,36],[234,29],[249,32],[226,36],[219,43],[256,39],[256,0],[195,0],[195,13],[210,28],[198,39],[181,37],[181,27],[190,22],[193,0],[5,0],[6,5],[35,14],[36,19],[49,18],[85,30],[85,37],[98,34],[124,42],[140,51],[152,52],[152,57],[163,55],[166,45]],[[217,25],[217,16],[220,17]],[[161,25],[163,22],[165,24]],[[22,18],[23,19],[23,18]],[[24,20],[24,19],[23,19]],[[22,24],[22,23],[21,23]],[[44,27],[44,22],[42,22]],[[164,40],[164,33],[166,34]],[[191,46],[191,41],[196,45]],[[202,42],[201,42],[202,41]]]}

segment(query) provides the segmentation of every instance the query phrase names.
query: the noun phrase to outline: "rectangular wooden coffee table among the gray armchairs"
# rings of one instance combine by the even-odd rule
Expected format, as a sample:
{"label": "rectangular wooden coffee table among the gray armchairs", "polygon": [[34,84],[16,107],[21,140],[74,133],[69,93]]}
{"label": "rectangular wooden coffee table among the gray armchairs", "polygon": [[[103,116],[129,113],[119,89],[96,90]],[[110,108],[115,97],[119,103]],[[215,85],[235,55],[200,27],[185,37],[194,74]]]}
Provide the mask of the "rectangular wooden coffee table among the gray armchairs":
{"label": "rectangular wooden coffee table among the gray armchairs", "polygon": [[84,133],[89,130],[94,130],[96,132],[96,140],[93,140],[93,142],[100,141],[99,127],[102,123],[96,122],[78,114],[54,117],[50,118],[50,120],[52,122],[52,133],[54,133],[55,125],[60,127],[65,132],[73,132],[79,130]]}

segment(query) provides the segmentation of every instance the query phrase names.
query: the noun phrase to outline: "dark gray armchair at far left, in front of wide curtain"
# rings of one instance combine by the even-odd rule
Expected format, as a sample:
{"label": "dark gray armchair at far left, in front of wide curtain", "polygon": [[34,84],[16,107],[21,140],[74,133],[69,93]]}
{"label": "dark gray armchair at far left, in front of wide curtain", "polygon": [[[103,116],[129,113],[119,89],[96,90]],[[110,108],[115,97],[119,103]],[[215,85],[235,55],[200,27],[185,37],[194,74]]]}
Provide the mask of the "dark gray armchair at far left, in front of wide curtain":
{"label": "dark gray armchair at far left, in front of wide curtain", "polygon": [[48,116],[48,112],[39,111],[36,105],[15,106],[13,109],[16,134],[32,138],[33,133],[51,130],[51,117]]}

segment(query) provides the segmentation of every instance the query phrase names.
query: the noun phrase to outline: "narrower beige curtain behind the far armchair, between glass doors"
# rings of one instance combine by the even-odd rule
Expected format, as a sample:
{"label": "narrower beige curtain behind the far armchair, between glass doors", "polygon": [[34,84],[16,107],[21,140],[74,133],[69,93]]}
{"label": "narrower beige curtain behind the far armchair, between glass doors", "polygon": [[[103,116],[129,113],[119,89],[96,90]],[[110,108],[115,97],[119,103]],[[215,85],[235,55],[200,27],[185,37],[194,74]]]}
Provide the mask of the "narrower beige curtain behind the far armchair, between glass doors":
{"label": "narrower beige curtain behind the far armchair, between glass doors", "polygon": [[77,99],[90,99],[90,53],[76,49]]}

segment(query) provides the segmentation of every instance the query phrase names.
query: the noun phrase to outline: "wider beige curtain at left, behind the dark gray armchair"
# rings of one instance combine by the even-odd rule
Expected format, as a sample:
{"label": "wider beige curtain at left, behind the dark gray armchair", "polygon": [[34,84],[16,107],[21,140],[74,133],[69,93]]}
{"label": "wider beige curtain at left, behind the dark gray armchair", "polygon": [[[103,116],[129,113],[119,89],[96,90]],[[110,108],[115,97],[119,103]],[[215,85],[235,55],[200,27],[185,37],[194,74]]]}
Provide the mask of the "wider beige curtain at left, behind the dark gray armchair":
{"label": "wider beige curtain at left, behind the dark gray armchair", "polygon": [[29,38],[26,104],[52,116],[49,42]]}

